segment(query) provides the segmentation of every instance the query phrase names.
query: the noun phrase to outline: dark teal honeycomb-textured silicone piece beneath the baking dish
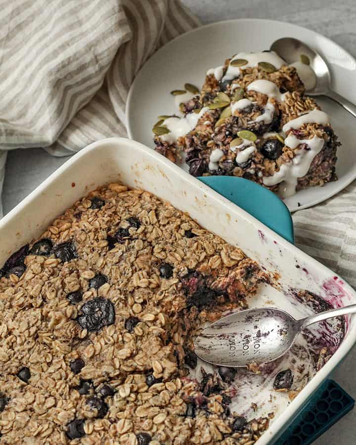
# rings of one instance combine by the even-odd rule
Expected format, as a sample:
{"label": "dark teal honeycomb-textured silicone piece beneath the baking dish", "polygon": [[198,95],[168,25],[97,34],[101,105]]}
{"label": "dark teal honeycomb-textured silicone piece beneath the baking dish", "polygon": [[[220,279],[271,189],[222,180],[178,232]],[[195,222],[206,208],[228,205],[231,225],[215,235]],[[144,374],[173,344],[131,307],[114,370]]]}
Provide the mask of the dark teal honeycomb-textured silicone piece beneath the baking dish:
{"label": "dark teal honeycomb-textured silicone piece beneath the baking dish", "polygon": [[309,445],[355,405],[334,380],[326,380],[274,445]]}

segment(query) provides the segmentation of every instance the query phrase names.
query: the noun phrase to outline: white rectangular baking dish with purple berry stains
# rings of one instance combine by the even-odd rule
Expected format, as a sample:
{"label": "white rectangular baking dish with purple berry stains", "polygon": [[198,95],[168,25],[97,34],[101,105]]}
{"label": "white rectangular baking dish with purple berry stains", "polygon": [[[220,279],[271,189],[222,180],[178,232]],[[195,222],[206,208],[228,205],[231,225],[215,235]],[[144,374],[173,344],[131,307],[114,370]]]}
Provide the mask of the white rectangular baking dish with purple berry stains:
{"label": "white rectangular baking dish with purple berry stains", "polygon": [[[110,138],[89,145],[0,221],[0,264],[31,238],[40,235],[56,216],[78,198],[110,181],[140,187],[170,201],[205,228],[229,243],[239,245],[263,267],[277,272],[278,289],[262,286],[257,296],[249,301],[250,307],[280,307],[296,317],[310,313],[307,307],[293,299],[292,288],[308,289],[334,307],[356,303],[355,291],[329,269],[163,156],[124,138]],[[258,445],[270,443],[272,438],[273,441],[277,439],[312,393],[347,355],[355,341],[356,319],[347,317],[346,334],[340,347],[299,395],[288,403],[286,395],[275,393],[277,399],[273,403],[276,416],[268,431],[257,442]],[[269,393],[267,388],[265,392],[258,390],[255,396],[250,394],[249,397],[260,394],[262,399],[266,399]],[[249,399],[249,403],[251,401],[255,400]],[[263,405],[257,415],[270,409],[270,405]]]}

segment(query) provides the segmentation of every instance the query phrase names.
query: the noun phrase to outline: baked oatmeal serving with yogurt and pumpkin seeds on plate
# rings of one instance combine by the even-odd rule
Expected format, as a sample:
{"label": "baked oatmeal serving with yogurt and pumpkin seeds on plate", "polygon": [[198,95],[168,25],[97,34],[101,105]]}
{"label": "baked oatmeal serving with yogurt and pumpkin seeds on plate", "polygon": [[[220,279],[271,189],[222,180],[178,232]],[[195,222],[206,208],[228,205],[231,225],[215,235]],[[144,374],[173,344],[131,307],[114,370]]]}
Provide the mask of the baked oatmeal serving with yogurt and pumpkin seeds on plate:
{"label": "baked oatmeal serving with yogurt and pumpkin seeds on plate", "polygon": [[179,112],[159,117],[155,148],[193,176],[247,178],[282,197],[334,181],[340,143],[306,95],[314,77],[272,51],[238,53],[208,70],[200,91],[172,91]]}

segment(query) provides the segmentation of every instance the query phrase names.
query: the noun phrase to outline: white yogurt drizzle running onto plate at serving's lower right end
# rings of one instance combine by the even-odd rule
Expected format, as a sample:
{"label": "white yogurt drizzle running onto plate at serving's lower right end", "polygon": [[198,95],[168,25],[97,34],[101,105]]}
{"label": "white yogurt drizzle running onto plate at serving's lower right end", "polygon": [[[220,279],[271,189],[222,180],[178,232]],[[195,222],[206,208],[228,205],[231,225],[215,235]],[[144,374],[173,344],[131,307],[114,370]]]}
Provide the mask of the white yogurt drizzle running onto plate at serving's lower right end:
{"label": "white yogurt drizzle running onto plate at serving's lower right end", "polygon": [[[296,140],[292,140],[292,137]],[[286,140],[287,139],[288,138],[286,138]],[[298,139],[292,135],[288,142],[291,143],[294,148],[299,144],[306,143],[308,144],[309,150],[304,148],[296,150],[296,155],[291,162],[281,165],[279,171],[275,172],[274,175],[263,178],[265,185],[276,185],[283,181],[279,190],[282,198],[288,198],[295,194],[298,178],[302,178],[308,173],[312,160],[324,145],[324,139],[317,136],[314,136],[312,139]]]}

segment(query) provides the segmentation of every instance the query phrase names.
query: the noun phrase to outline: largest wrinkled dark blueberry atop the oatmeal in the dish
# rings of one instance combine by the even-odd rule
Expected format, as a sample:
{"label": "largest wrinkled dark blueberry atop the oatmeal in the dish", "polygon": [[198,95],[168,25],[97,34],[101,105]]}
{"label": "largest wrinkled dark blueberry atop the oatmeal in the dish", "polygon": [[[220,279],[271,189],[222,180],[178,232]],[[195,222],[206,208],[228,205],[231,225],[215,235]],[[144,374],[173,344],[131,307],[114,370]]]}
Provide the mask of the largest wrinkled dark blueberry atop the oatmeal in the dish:
{"label": "largest wrinkled dark blueberry atop the oatmeal in the dish", "polygon": [[87,301],[81,308],[77,321],[83,329],[97,332],[115,322],[115,307],[110,300],[97,297]]}

